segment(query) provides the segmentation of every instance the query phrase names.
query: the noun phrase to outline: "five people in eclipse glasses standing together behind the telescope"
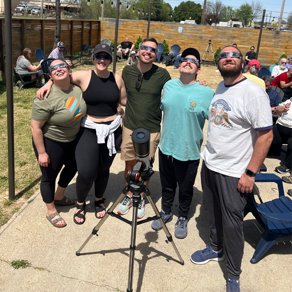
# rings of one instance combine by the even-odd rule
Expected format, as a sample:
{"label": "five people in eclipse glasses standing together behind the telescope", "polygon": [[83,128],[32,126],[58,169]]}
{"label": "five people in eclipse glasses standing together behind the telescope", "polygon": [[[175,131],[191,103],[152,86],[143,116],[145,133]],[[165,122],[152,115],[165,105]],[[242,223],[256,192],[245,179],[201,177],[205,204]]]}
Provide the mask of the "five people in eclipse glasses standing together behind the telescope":
{"label": "five people in eclipse glasses standing together behind the telescope", "polygon": [[[108,71],[112,54],[105,44],[94,48],[93,71],[71,74],[63,61],[52,62],[50,71],[54,85],[49,82],[38,91],[39,98],[46,91],[47,94],[45,101],[34,98],[32,114],[32,128],[34,124],[38,127],[37,134],[33,129],[33,141],[43,174],[41,194],[48,206],[47,218],[55,227],[66,225],[53,206],[54,202],[73,204],[64,197],[64,190],[76,170],[74,222],[83,224],[85,221],[85,199],[93,182],[95,216],[103,217],[102,196],[116,150],[122,143],[121,159],[126,162],[126,176],[136,164],[131,133],[137,128],[146,128],[151,137],[150,157],[154,159],[159,147],[161,216],[165,223],[173,219],[173,201],[179,185],[179,218],[175,224],[178,238],[187,236],[187,216],[202,157],[201,184],[210,225],[210,244],[191,255],[191,261],[205,264],[210,260],[221,261],[226,255],[227,291],[240,291],[243,211],[246,198],[253,190],[256,172],[273,140],[269,98],[262,88],[242,75],[243,57],[233,46],[223,48],[219,54],[218,69],[224,81],[215,94],[207,86],[202,86],[206,85],[203,81],[197,81],[201,68],[200,53],[196,49],[183,51],[180,78],[171,80],[165,69],[153,64],[157,47],[154,38],[146,38],[138,51],[139,63],[126,66],[122,77]],[[57,95],[54,91],[63,92]],[[127,104],[123,132],[116,111],[118,103]],[[209,120],[207,142],[200,153],[206,119]],[[56,193],[55,179],[60,168],[52,165],[51,155],[54,156],[55,151],[61,153],[58,154],[58,164],[65,165]],[[49,193],[47,197],[42,191],[45,188]],[[141,196],[138,218],[145,214],[144,194]],[[125,196],[118,207],[119,214],[128,213],[131,197],[130,192]],[[153,221],[152,228],[160,230],[161,225]]]}

